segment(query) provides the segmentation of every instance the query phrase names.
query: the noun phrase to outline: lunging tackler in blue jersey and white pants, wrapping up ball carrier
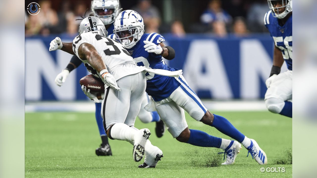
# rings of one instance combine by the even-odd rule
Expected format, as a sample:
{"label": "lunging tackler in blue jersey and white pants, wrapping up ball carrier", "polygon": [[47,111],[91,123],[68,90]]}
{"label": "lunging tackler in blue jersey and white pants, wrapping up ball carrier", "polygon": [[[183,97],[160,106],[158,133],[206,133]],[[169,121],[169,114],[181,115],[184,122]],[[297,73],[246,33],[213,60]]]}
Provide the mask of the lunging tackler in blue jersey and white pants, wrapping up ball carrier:
{"label": "lunging tackler in blue jersey and white pants, wrapping up ball carrier", "polygon": [[[133,10],[120,12],[114,22],[114,34],[108,38],[116,39],[128,50],[139,66],[152,69],[176,71],[168,67],[162,57],[172,60],[175,51],[165,46],[164,37],[157,33],[145,34],[142,17]],[[216,147],[224,150],[227,156],[225,165],[233,164],[241,144],[248,149],[252,158],[259,164],[267,163],[267,156],[255,140],[238,131],[226,118],[211,114],[196,93],[191,90],[183,76],[167,77],[146,73],[146,92],[152,97],[146,105],[148,111],[156,110],[168,127],[171,135],[180,142],[201,147]],[[223,134],[236,139],[231,141],[211,136],[200,130],[189,129],[184,110],[197,121],[215,127]],[[239,143],[240,142],[240,143]],[[248,153],[248,155],[249,155]],[[139,165],[147,167],[146,162]]]}

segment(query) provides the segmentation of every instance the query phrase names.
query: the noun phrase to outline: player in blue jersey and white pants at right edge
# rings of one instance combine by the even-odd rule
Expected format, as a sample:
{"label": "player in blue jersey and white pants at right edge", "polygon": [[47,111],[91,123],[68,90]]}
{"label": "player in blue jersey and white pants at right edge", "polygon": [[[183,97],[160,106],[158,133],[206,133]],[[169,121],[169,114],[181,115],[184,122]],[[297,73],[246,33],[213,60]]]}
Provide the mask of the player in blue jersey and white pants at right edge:
{"label": "player in blue jersey and white pants at right edge", "polygon": [[[268,0],[268,11],[264,24],[274,40],[273,66],[265,84],[265,105],[268,111],[292,118],[292,81],[293,81],[293,35],[292,0]],[[288,70],[281,72],[283,63]]]}

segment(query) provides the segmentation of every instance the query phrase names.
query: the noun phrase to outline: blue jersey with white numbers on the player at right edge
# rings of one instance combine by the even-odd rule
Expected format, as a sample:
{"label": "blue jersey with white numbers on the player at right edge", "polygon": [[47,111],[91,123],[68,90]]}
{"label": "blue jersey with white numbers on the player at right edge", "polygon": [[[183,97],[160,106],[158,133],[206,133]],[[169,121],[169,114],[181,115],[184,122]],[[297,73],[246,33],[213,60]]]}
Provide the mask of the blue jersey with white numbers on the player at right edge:
{"label": "blue jersey with white numbers on the player at right edge", "polygon": [[281,49],[283,58],[288,70],[292,70],[293,64],[293,35],[292,35],[292,15],[283,26],[280,26],[278,18],[273,17],[271,11],[264,16],[265,27],[268,28],[273,37],[275,46]]}

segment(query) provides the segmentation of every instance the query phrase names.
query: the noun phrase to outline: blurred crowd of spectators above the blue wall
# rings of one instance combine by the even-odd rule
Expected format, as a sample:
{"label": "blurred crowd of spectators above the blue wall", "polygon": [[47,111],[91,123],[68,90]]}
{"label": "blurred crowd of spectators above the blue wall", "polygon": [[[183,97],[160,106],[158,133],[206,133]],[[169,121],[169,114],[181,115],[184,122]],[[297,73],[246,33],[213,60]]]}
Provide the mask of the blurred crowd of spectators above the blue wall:
{"label": "blurred crowd of spectators above the blue wall", "polygon": [[[91,1],[25,1],[39,3],[41,11],[31,16],[25,11],[25,35],[78,34],[82,17],[91,13]],[[150,1],[121,0],[122,10],[135,10],[144,19],[145,33],[172,33],[183,37],[186,33],[206,33],[217,37],[228,34],[247,36],[267,33],[264,14],[267,0],[211,0],[211,1]]]}

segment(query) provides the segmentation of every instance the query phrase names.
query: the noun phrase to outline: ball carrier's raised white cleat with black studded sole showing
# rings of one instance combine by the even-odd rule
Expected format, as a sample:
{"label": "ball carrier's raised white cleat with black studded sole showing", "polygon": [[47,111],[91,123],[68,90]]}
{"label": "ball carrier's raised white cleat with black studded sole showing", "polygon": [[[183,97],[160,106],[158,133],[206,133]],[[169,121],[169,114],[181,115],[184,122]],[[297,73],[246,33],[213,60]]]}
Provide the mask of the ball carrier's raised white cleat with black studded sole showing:
{"label": "ball carrier's raised white cleat with black studded sole showing", "polygon": [[151,132],[149,129],[140,129],[138,134],[134,136],[133,146],[133,160],[135,162],[141,161],[144,156],[144,147],[147,139],[149,139]]}

